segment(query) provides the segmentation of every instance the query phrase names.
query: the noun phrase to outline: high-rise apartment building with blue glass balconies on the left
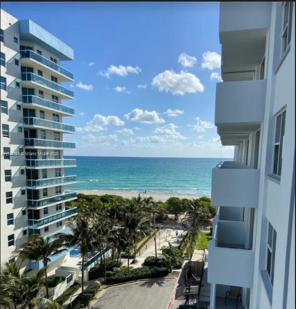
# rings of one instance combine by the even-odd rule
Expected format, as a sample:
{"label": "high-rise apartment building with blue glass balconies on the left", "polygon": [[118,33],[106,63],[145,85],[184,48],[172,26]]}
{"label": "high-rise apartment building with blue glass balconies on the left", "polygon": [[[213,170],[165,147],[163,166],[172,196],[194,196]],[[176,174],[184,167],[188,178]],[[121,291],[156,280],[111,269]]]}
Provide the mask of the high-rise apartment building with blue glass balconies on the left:
{"label": "high-rise apartment building with blue glass balconies on the left", "polygon": [[[32,20],[17,20],[1,10],[1,264],[31,234],[50,236],[66,232],[65,220],[77,208],[65,206],[76,199],[66,185],[75,159],[64,151],[75,143],[64,135],[75,128],[64,122],[74,109],[64,105],[74,92],[64,85],[73,73],[60,65],[73,60],[73,50]],[[67,139],[67,138],[66,138]],[[49,272],[65,259],[52,257]],[[27,270],[42,262],[28,261]]]}

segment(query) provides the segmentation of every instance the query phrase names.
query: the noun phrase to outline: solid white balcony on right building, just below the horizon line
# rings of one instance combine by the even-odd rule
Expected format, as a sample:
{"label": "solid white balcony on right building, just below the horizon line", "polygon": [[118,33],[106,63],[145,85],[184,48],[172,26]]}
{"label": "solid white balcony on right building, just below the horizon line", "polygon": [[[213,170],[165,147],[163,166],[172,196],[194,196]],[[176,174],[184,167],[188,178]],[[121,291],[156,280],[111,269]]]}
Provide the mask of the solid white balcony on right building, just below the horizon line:
{"label": "solid white balcony on right building, just below the horizon line", "polygon": [[221,162],[212,170],[212,203],[258,208],[259,174],[236,162]]}

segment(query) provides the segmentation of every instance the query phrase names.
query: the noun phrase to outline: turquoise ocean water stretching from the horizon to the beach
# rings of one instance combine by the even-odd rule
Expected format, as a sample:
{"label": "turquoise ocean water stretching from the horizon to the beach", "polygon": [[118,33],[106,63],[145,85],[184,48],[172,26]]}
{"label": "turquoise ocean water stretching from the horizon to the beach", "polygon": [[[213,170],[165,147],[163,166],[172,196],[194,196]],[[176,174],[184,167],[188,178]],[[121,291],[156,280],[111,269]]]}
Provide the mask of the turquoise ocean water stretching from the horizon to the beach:
{"label": "turquoise ocean water stretching from the horizon to the beach", "polygon": [[[220,158],[67,157],[77,159],[73,190],[210,195],[212,169]],[[222,159],[232,160],[232,159]]]}

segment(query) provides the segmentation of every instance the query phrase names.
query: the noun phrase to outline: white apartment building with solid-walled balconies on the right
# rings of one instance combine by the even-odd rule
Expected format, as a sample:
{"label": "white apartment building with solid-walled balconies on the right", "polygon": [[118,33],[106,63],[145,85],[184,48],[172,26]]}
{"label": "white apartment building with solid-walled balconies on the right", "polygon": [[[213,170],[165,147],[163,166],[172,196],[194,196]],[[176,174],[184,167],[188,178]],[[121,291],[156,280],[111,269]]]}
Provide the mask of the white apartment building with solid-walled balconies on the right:
{"label": "white apartment building with solid-walled balconies on the right", "polygon": [[[221,2],[210,308],[295,307],[295,6]],[[229,299],[230,298],[230,299]]]}

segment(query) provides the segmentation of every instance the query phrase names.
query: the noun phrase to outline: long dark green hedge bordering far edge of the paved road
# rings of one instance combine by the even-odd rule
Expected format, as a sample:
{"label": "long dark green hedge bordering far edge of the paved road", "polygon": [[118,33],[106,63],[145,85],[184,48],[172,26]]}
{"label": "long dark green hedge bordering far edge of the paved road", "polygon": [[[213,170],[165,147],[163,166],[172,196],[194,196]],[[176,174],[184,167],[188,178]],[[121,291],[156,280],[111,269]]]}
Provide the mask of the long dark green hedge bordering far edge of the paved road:
{"label": "long dark green hedge bordering far edge of the paved road", "polygon": [[166,276],[170,270],[165,267],[156,267],[156,266],[144,266],[128,271],[117,271],[113,274],[108,274],[107,283],[116,284],[121,282],[128,282],[139,279],[151,279],[159,278]]}

